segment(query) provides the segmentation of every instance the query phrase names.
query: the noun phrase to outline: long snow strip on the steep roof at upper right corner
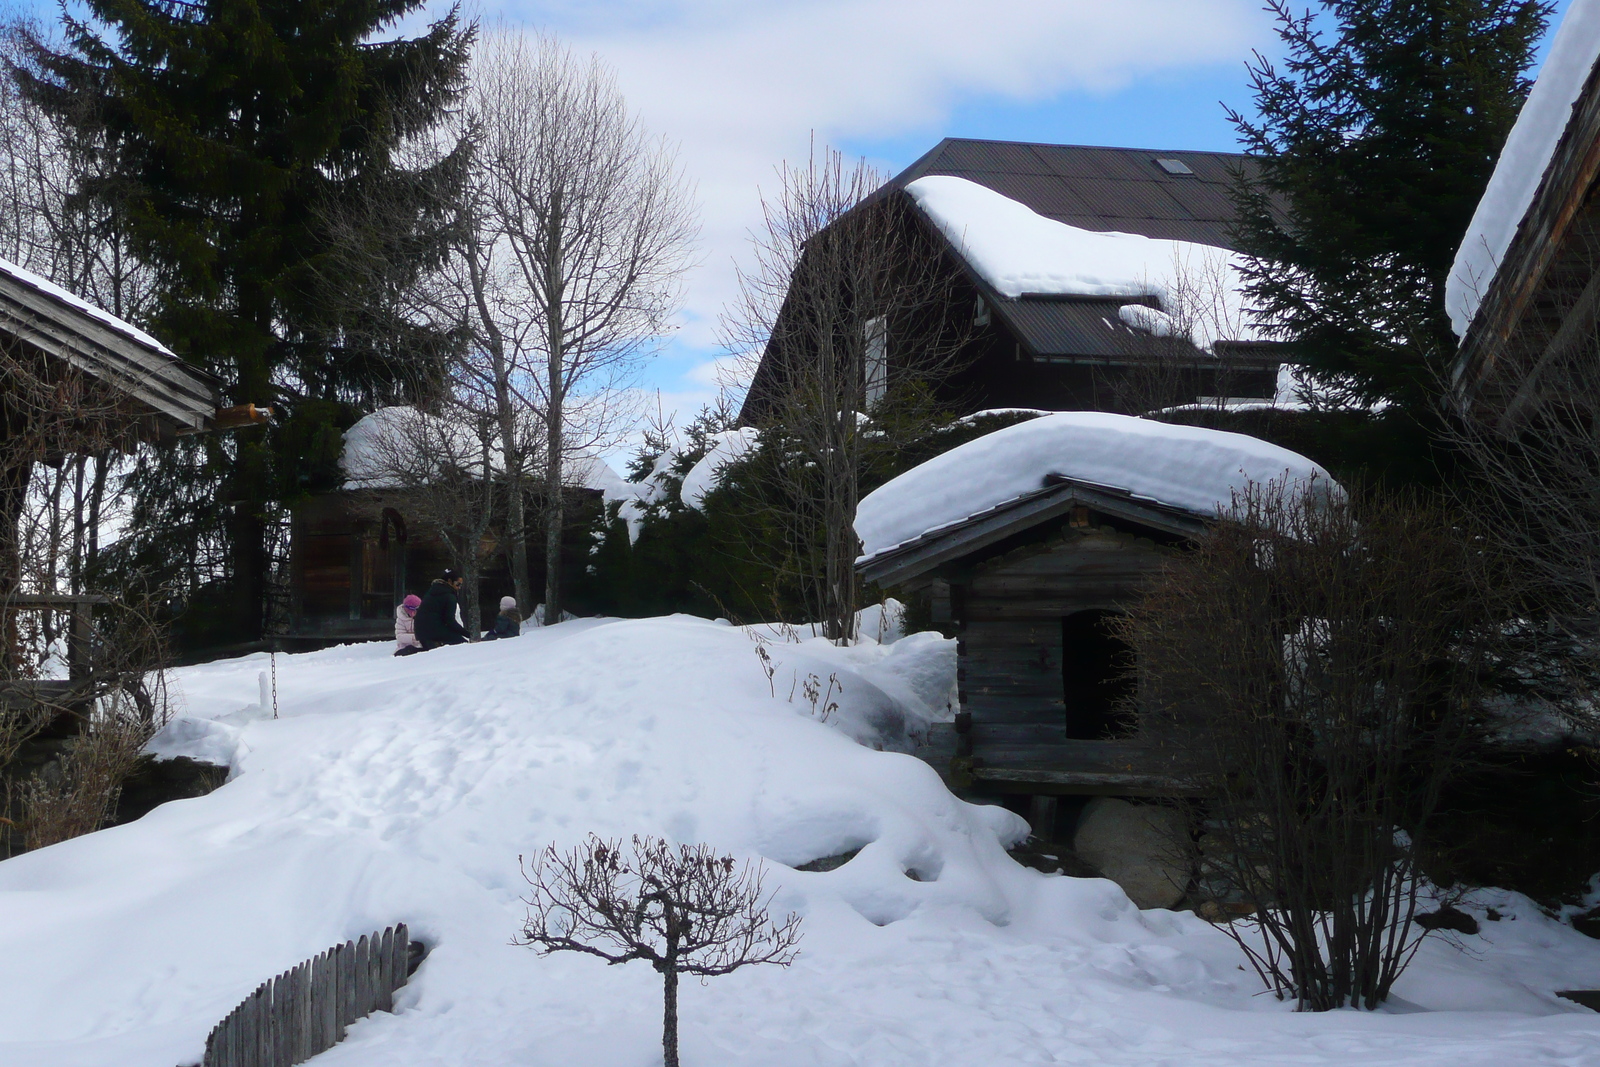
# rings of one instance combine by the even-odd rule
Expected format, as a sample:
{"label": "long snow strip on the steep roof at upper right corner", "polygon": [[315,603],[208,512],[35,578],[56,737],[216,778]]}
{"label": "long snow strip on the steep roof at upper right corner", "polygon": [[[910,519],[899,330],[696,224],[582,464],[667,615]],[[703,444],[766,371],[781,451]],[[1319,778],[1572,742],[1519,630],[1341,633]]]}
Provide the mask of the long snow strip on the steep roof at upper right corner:
{"label": "long snow strip on the steep roof at upper right corner", "polygon": [[1571,0],[1445,280],[1445,309],[1456,336],[1466,336],[1478,314],[1478,304],[1533,205],[1597,56],[1600,0]]}

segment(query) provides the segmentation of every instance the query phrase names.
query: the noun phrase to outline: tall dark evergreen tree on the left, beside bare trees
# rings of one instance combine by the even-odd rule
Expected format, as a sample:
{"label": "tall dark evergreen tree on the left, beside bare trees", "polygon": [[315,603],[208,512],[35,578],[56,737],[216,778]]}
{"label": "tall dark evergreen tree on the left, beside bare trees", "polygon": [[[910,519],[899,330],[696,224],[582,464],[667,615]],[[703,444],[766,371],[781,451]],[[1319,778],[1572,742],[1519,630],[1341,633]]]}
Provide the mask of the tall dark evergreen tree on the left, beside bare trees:
{"label": "tall dark evergreen tree on the left, beside bare trees", "polygon": [[[157,269],[152,328],[235,402],[280,414],[267,430],[146,458],[138,547],[194,584],[210,560],[232,608],[213,635],[253,638],[283,504],[314,480],[309,443],[326,453],[338,421],[426,381],[414,354],[448,344],[374,323],[389,304],[363,288],[403,286],[445,254],[459,160],[397,157],[445,117],[472,32],[451,11],[421,37],[379,40],[421,0],[85,6],[88,18],[66,18],[64,46],[30,40],[40,74],[13,77],[110,146],[106,181],[82,192],[115,205]],[[338,269],[350,219],[371,226],[360,243],[390,253],[398,274]]]}

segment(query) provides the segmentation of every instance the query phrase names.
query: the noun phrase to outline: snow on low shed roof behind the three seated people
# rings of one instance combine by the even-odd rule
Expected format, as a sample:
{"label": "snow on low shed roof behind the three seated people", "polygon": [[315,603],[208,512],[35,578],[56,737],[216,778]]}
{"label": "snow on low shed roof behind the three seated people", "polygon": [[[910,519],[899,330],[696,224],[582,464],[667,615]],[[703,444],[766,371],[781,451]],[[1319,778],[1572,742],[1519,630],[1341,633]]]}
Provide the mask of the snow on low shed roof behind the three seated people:
{"label": "snow on low shed roof behind the three seated people", "polygon": [[[440,451],[448,451],[453,458],[477,458],[482,445],[470,429],[446,422],[432,414],[408,406],[378,408],[357,421],[344,432],[344,450],[339,453],[339,470],[344,472],[346,490],[389,490],[410,478],[397,475],[397,469],[406,475],[419,475],[427,470],[429,459],[418,454],[427,443],[437,442]],[[462,462],[467,470],[475,470],[482,461]],[[491,445],[490,470],[506,467],[502,456]],[[598,456],[570,456],[566,459],[565,482],[582,490],[602,490],[606,499],[627,494],[627,483],[622,482],[610,464]]]}

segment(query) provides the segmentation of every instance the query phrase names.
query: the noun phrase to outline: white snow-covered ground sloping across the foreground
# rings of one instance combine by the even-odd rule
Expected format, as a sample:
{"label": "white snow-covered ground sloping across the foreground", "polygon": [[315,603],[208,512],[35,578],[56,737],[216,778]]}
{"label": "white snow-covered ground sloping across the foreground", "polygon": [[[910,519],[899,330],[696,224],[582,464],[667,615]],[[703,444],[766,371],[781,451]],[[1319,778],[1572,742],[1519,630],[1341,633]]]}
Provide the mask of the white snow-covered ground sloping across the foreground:
{"label": "white snow-covered ground sloping across the foreground", "polygon": [[[397,920],[432,955],[318,1064],[658,1064],[654,973],[510,945],[518,853],[590,830],[765,857],[805,917],[792,968],[683,987],[688,1065],[1600,1064],[1600,1016],[1552,995],[1600,987],[1600,942],[1526,901],[1469,904],[1504,918],[1427,944],[1387,1011],[1296,1014],[1218,929],[1016,865],[1014,816],[872,747],[946,713],[947,641],[770,643],[771,680],[757,646],[669,617],[280,656],[277,720],[266,656],[178,672],[163,744],[234,776],[0,864],[0,1064],[192,1064],[258,982]],[[827,723],[811,673],[843,685]]]}

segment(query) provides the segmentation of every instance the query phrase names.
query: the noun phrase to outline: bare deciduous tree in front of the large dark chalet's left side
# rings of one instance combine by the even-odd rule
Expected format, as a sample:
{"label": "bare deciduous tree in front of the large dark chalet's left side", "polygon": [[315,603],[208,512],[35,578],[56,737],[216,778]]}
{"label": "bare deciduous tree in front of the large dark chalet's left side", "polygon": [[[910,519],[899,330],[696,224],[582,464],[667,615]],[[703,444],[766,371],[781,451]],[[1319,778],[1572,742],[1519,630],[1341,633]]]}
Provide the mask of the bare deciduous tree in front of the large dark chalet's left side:
{"label": "bare deciduous tree in front of the large dark chalet's left side", "polygon": [[813,617],[845,643],[859,598],[862,469],[930,429],[973,309],[954,296],[942,238],[866,162],[822,150],[778,179],[723,331],[749,363],[746,413],[768,438],[766,477],[784,490],[762,507],[784,531]]}

